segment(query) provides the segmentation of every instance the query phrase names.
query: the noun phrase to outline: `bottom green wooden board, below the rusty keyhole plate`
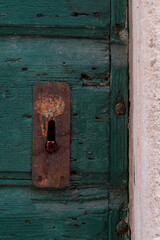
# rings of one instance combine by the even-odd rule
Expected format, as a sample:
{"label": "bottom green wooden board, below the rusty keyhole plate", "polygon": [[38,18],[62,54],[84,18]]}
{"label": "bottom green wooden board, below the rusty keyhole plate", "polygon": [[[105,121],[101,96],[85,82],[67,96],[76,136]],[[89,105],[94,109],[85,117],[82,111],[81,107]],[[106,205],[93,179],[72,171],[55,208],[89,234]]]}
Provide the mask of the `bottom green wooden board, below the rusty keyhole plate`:
{"label": "bottom green wooden board, below the rusty keyhole plate", "polygon": [[0,238],[106,239],[106,187],[0,189]]}

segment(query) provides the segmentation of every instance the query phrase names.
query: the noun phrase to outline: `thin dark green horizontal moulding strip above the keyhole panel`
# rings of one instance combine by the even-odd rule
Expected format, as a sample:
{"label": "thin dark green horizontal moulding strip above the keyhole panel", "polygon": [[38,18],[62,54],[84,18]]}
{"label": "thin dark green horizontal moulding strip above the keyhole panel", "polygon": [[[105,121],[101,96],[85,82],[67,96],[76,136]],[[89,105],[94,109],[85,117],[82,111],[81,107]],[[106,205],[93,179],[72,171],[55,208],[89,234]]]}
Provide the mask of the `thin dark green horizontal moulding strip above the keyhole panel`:
{"label": "thin dark green horizontal moulding strip above the keyhole panel", "polygon": [[46,27],[0,25],[0,36],[43,36],[63,38],[105,39],[109,43],[108,29],[95,27]]}

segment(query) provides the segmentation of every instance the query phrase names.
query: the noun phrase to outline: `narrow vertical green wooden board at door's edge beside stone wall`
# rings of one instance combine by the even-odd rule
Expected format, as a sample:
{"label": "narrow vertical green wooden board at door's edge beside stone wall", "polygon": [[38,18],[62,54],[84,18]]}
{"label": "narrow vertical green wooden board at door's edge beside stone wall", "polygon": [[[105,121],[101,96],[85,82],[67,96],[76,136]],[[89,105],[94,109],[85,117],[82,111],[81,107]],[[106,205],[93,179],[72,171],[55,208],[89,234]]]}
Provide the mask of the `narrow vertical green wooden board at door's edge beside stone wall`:
{"label": "narrow vertical green wooden board at door's edge beside stone wall", "polygon": [[[111,1],[109,240],[128,240],[128,24],[127,0]],[[123,115],[116,104],[125,105]],[[128,230],[128,231],[127,231]]]}

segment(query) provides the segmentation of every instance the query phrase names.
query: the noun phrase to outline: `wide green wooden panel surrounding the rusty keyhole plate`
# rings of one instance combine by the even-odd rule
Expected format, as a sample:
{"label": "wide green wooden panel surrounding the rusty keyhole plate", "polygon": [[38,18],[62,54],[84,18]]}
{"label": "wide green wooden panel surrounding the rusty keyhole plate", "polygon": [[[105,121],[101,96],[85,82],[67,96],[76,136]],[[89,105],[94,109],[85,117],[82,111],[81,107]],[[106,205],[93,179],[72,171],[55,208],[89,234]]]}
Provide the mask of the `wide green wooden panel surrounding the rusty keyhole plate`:
{"label": "wide green wooden panel surrounding the rusty keyhole plate", "polygon": [[106,42],[0,38],[0,47],[0,171],[31,171],[33,86],[63,81],[71,89],[71,180],[107,182],[110,92]]}

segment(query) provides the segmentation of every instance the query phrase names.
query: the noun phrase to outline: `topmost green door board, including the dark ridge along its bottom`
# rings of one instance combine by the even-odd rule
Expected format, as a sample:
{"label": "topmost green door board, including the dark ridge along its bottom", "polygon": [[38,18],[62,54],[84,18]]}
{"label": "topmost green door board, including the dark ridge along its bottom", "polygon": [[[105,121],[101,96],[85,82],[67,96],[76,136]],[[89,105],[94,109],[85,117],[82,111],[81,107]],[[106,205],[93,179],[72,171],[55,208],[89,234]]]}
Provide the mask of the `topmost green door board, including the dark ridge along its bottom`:
{"label": "topmost green door board, including the dark ridge along its bottom", "polygon": [[0,2],[0,34],[104,38],[109,16],[106,0],[6,0]]}

